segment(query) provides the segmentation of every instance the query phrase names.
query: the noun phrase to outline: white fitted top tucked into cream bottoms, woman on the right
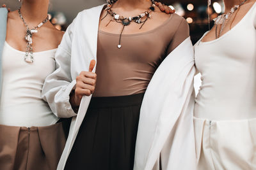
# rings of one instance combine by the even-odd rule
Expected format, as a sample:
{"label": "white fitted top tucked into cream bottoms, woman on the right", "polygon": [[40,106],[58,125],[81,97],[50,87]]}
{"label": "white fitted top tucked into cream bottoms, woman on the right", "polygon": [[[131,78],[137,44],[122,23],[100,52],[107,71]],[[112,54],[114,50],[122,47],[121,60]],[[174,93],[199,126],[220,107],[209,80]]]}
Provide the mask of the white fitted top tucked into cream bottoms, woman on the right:
{"label": "white fitted top tucked into cream bottoms, woman on the right", "polygon": [[209,42],[200,39],[195,45],[195,63],[202,74],[195,117],[209,120],[255,118],[256,3],[220,38]]}

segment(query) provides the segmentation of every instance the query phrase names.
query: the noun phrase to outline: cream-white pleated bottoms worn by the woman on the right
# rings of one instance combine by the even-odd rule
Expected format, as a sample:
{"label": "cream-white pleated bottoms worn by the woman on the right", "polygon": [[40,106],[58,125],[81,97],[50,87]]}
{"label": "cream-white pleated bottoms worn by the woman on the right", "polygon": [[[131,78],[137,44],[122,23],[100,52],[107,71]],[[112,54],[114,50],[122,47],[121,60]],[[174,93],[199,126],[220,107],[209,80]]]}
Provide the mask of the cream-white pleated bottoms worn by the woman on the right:
{"label": "cream-white pleated bottoms worn by the woman on the right", "polygon": [[256,118],[210,121],[194,118],[199,170],[256,169]]}

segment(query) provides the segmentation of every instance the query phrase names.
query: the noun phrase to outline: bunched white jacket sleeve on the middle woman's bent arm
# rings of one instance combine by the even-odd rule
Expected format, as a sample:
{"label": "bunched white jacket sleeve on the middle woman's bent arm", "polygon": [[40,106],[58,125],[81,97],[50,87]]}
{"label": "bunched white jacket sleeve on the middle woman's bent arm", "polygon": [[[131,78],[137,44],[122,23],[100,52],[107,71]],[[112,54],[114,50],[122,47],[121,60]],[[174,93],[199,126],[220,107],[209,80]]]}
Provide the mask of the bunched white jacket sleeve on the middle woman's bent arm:
{"label": "bunched white jacket sleeve on the middle woman's bent arm", "polygon": [[42,99],[57,117],[69,118],[77,114],[69,102],[70,92],[75,88],[76,80],[72,80],[70,60],[72,53],[72,38],[76,19],[67,28],[55,55],[56,70],[47,76],[42,89]]}

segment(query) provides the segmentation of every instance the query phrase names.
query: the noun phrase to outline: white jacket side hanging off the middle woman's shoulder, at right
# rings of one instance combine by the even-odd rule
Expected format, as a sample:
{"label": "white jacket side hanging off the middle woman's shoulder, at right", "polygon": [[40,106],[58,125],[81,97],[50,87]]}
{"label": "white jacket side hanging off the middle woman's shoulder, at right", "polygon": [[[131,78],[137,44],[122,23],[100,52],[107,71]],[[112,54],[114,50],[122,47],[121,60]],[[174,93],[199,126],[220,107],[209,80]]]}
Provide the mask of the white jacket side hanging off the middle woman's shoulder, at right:
{"label": "white jacket side hanging off the middle woman's shoulder, at right", "polygon": [[140,111],[134,170],[159,169],[156,163],[160,155],[163,169],[195,169],[194,75],[193,46],[187,38],[164,59],[147,87]]}

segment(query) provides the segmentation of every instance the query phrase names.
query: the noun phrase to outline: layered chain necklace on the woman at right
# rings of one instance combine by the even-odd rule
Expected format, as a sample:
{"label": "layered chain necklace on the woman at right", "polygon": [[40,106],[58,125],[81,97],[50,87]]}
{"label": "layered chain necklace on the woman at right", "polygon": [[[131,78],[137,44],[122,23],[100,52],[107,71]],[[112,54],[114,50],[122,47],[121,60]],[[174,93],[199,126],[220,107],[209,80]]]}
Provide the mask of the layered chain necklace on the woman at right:
{"label": "layered chain necklace on the woman at right", "polygon": [[216,25],[216,39],[220,38],[223,30],[225,29],[225,26],[228,23],[228,20],[230,17],[235,13],[236,10],[238,10],[247,0],[244,0],[241,4],[235,5],[228,13],[224,13],[220,15],[219,17],[214,19],[215,25]]}

